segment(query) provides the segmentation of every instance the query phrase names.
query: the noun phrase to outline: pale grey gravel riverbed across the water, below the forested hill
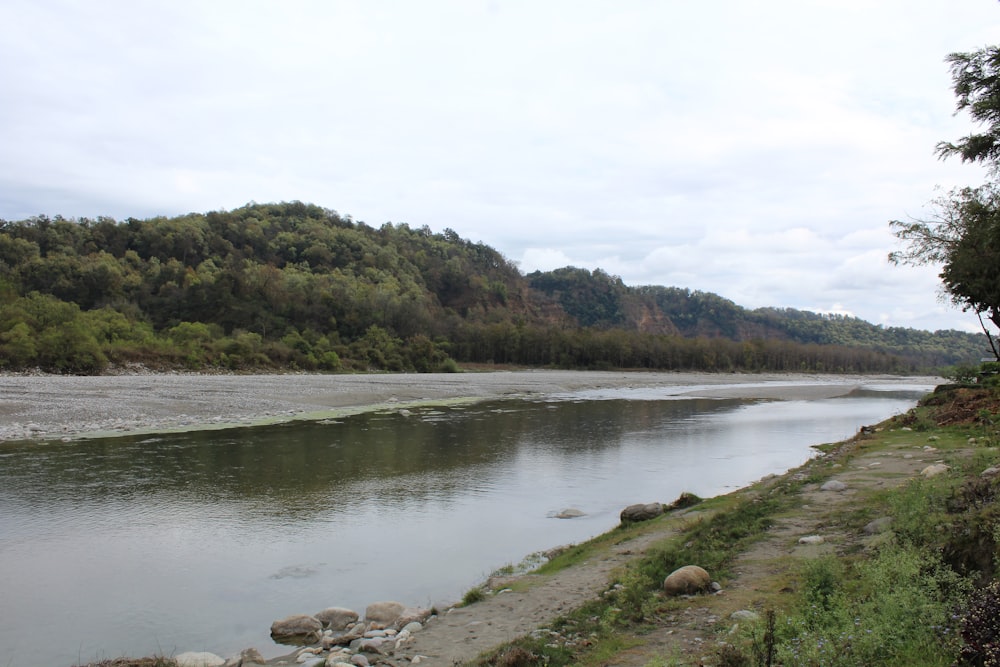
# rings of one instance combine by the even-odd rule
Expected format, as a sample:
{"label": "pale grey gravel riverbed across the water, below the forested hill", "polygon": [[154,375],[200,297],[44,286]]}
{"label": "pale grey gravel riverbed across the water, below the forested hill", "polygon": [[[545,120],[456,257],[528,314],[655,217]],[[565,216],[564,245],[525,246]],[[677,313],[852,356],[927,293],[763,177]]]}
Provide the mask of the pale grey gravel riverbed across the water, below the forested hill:
{"label": "pale grey gravel riverbed across the water, below the forested hill", "polygon": [[[828,398],[861,384],[938,378],[502,371],[454,374],[0,376],[0,441],[222,428],[452,400],[672,387],[710,397]],[[688,389],[689,388],[689,389]]]}

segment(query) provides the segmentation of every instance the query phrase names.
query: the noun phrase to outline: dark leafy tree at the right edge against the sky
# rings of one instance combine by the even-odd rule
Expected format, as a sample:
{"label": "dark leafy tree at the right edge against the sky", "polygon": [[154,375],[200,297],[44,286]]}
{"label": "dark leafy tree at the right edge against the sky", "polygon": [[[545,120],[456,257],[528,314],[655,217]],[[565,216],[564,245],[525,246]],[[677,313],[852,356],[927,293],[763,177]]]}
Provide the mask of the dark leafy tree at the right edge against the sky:
{"label": "dark leafy tree at the right edge against the sky", "polygon": [[983,314],[1000,328],[1000,47],[974,53],[952,53],[952,81],[958,111],[987,123],[985,133],[970,134],[957,144],[941,142],[941,157],[958,155],[963,162],[990,167],[992,180],[978,188],[958,188],[938,199],[931,220],[889,223],[907,247],[889,254],[894,264],[940,264],[941,282],[962,310],[972,310],[1000,360]]}

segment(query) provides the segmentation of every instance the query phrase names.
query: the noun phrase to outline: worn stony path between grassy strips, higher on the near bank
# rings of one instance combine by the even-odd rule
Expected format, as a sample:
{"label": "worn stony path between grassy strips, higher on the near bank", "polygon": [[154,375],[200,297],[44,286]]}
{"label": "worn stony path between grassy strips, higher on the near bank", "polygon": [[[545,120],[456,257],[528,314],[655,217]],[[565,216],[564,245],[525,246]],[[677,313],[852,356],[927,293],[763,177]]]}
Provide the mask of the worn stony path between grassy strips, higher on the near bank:
{"label": "worn stony path between grassy strips, higher on the near bank", "polygon": [[[865,451],[864,441],[852,441],[847,447],[851,448],[849,458],[829,457],[846,463],[812,463],[832,472],[828,480],[843,483],[843,490],[823,490],[823,483],[803,486],[798,494],[801,502],[775,517],[766,536],[734,559],[721,594],[676,602],[648,633],[635,637],[631,648],[605,664],[640,667],[658,660],[708,664],[704,660],[718,642],[719,633],[735,626],[731,619],[734,612],[780,609],[783,598],[797,586],[796,572],[803,559],[852,553],[878,539],[864,530],[869,521],[878,518],[869,511],[872,495],[896,488],[940,461],[940,453],[928,448],[925,438],[917,433],[909,434],[905,442],[874,451]],[[956,450],[948,453],[949,457],[964,454]],[[806,473],[792,476],[796,474]],[[760,492],[766,493],[767,488],[762,484]],[[822,542],[799,542],[810,536],[822,537]]]}

